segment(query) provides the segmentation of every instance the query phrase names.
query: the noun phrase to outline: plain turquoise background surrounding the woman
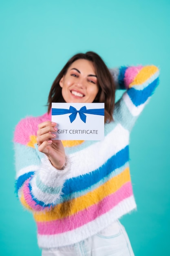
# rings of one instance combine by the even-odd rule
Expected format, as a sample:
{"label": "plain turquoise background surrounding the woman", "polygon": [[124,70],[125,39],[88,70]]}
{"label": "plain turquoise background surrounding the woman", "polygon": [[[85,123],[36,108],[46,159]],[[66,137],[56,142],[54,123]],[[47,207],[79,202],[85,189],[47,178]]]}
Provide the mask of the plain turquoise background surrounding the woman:
{"label": "plain turquoise background surrounding the woman", "polygon": [[21,118],[46,111],[57,73],[88,50],[108,67],[153,63],[161,70],[159,88],[132,130],[138,211],[122,223],[136,256],[170,255],[169,48],[169,0],[0,1],[0,255],[41,255],[32,214],[14,194],[13,131]]}

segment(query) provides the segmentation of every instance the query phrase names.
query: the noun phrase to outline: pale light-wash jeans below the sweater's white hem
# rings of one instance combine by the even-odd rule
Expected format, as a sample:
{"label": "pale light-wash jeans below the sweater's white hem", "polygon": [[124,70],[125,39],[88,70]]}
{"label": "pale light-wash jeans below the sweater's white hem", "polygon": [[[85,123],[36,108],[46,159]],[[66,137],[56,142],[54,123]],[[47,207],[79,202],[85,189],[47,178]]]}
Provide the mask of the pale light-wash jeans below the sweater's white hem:
{"label": "pale light-wash jeans below the sweater's white hem", "polygon": [[74,245],[42,250],[42,256],[134,256],[124,226],[118,221]]}

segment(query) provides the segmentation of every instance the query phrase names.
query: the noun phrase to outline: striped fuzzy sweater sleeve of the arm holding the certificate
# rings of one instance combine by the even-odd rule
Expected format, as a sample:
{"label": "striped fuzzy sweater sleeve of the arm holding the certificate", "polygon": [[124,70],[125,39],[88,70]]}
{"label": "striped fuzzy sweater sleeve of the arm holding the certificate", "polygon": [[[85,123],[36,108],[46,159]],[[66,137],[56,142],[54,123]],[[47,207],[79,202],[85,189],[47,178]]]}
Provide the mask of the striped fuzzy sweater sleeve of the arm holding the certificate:
{"label": "striped fuzzy sweater sleeve of the arm holding the certificate", "polygon": [[15,189],[24,207],[33,211],[48,211],[60,198],[69,161],[67,159],[62,171],[51,165],[48,157],[38,151],[35,134],[28,137],[31,122],[30,118],[23,119],[15,129]]}

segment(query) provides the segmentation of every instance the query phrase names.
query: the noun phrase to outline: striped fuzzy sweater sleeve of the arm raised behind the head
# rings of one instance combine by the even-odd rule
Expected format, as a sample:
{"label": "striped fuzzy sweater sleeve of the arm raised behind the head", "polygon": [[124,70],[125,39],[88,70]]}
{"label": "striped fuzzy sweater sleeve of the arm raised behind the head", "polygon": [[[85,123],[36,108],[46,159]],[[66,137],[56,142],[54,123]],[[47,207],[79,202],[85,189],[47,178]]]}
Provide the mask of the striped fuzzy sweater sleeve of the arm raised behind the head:
{"label": "striped fuzzy sweater sleeve of the arm raised behind the head", "polygon": [[113,118],[130,131],[159,83],[159,69],[139,65],[111,69],[110,73],[116,88],[126,90],[115,103]]}

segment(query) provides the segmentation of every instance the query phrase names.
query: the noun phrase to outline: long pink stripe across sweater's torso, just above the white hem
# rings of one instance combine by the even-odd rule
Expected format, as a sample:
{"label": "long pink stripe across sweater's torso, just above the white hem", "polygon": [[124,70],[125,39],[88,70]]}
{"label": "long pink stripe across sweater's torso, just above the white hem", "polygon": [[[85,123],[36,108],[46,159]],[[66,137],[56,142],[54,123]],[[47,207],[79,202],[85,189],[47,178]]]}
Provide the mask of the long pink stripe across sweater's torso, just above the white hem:
{"label": "long pink stripe across sweater's torso, just above the white hem", "polygon": [[82,225],[85,225],[102,214],[110,211],[122,200],[132,195],[132,185],[130,182],[124,184],[121,189],[104,198],[98,204],[93,204],[84,211],[79,211],[77,214],[68,216],[62,220],[53,220],[48,222],[37,222],[38,234],[54,235],[71,231]]}

